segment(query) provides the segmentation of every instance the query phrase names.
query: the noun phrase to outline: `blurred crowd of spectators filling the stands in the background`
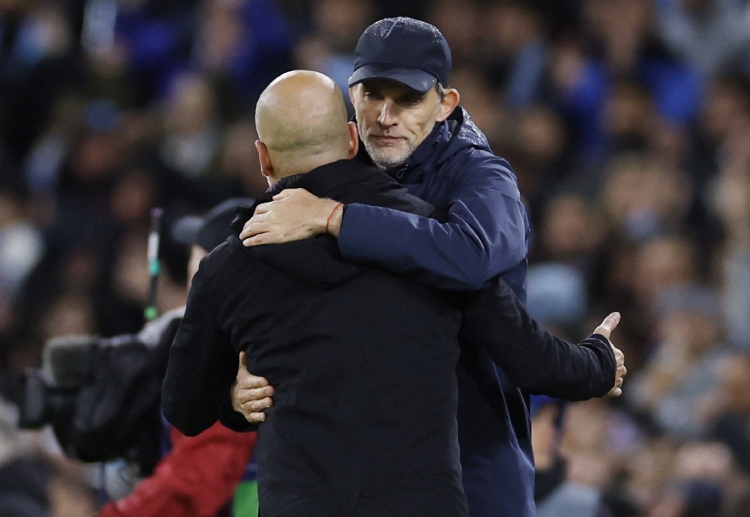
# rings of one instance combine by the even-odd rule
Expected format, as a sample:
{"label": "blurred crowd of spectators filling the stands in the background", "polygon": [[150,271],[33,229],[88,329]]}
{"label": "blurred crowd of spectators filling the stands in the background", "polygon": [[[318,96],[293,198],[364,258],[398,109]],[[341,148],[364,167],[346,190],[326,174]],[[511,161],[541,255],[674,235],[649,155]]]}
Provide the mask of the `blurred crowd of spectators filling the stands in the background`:
{"label": "blurred crowd of spectators filling the stands in the background", "polygon": [[51,337],[139,330],[151,209],[261,193],[257,95],[294,68],[345,88],[397,15],[443,32],[518,176],[532,314],[574,341],[623,314],[624,395],[567,408],[568,481],[613,517],[750,516],[747,0],[0,0],[0,500],[96,511],[90,470],[17,429],[21,373]]}

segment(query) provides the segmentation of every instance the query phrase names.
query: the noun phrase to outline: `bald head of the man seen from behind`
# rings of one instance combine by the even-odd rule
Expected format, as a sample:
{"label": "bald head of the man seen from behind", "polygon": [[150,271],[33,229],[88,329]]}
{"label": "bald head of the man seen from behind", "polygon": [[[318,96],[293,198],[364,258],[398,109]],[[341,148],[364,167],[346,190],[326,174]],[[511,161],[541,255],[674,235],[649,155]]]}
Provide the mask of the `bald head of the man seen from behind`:
{"label": "bald head of the man seen from behind", "polygon": [[295,70],[261,93],[255,125],[268,153],[270,181],[350,157],[351,131],[341,90],[329,77]]}

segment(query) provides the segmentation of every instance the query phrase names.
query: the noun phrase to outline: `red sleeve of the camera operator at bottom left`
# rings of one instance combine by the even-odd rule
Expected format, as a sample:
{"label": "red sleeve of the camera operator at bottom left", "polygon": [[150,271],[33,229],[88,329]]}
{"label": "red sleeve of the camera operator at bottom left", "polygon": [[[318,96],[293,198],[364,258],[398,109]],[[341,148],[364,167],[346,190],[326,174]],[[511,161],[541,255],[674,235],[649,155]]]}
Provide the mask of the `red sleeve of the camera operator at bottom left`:
{"label": "red sleeve of the camera operator at bottom left", "polygon": [[213,517],[232,498],[257,435],[216,423],[199,436],[172,428],[172,449],[127,497],[105,505],[99,517]]}

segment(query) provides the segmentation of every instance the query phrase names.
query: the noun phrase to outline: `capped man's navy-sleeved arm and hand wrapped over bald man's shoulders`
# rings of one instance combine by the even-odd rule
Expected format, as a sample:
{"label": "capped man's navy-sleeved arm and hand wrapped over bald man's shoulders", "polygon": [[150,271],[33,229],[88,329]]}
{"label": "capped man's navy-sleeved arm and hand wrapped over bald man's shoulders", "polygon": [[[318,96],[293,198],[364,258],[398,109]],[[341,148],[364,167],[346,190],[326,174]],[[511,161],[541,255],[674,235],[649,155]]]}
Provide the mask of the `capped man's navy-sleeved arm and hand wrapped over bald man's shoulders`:
{"label": "capped man's navy-sleeved arm and hand wrapped over bald man's shoulders", "polygon": [[447,191],[444,221],[360,203],[337,208],[336,201],[290,189],[258,207],[240,237],[252,246],[327,231],[338,236],[347,260],[433,287],[484,287],[526,259],[529,225],[505,160],[479,151],[463,160],[436,172]]}

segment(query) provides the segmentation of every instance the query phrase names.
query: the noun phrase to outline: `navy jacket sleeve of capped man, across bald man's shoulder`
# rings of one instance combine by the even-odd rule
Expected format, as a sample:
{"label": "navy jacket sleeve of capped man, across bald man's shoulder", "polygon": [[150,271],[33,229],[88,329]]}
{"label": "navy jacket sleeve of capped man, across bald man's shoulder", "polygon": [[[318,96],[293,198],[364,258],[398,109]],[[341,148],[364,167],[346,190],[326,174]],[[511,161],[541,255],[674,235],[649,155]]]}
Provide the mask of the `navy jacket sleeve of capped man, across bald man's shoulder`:
{"label": "navy jacket sleeve of capped man, across bald man's shoulder", "polygon": [[473,151],[451,168],[450,177],[439,172],[450,189],[445,222],[348,204],[339,234],[343,257],[432,287],[466,290],[485,287],[524,261],[529,224],[507,162]]}

